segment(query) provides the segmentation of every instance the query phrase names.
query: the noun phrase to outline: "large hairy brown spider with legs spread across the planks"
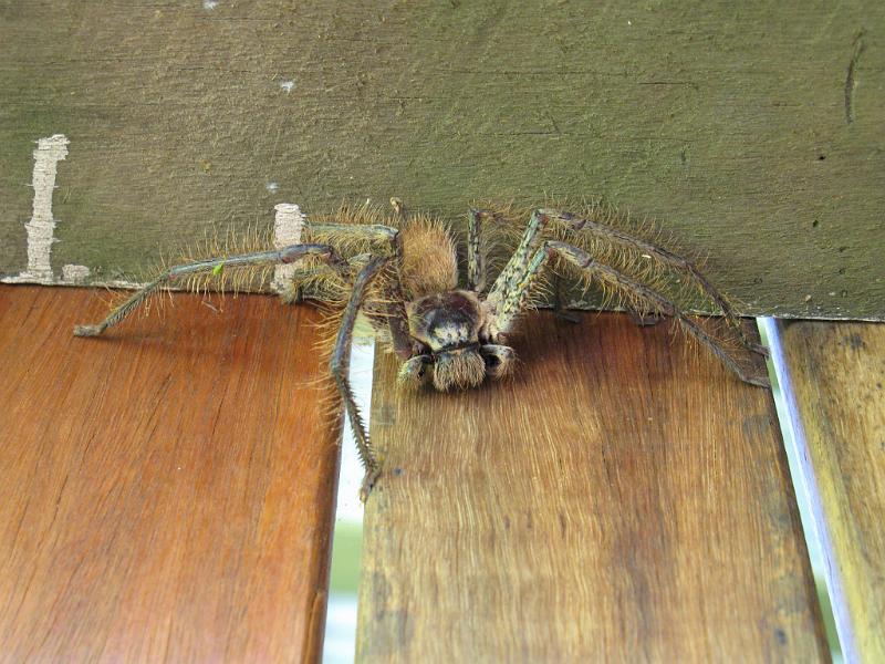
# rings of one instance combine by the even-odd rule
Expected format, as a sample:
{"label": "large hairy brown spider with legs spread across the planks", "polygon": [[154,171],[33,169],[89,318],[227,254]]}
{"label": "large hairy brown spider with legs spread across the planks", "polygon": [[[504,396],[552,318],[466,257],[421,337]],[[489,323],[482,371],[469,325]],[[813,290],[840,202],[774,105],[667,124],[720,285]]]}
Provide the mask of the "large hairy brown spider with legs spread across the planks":
{"label": "large hairy brown spider with legs spread across the planks", "polygon": [[[392,204],[394,215],[385,216],[367,205],[344,206],[336,215],[311,219],[300,243],[272,249],[270,242],[258,241],[251,251],[165,269],[102,322],[77,325],[74,334],[102,334],[167,286],[199,291],[212,282],[215,288],[236,290],[257,271],[293,266],[295,271],[281,292],[283,300],[306,297],[326,303],[330,329],[336,330],[329,367],[365,469],[363,499],[379,477],[381,464],[347,377],[360,313],[402,360],[402,384],[467,390],[512,373],[516,354],[508,336],[520,317],[545,295],[552,279],[572,278],[585,288],[601,287],[634,312],[638,322],[647,321],[649,314],[676,319],[740,380],[769,386],[747,362],[751,354],[767,355],[767,349],[745,335],[728,300],[694,262],[665,248],[658,237],[648,239],[647,231],[625,229],[628,222],[623,215],[601,206],[584,206],[581,214],[472,207],[467,216],[466,282],[459,288],[452,231],[428,216],[407,214],[398,199]],[[522,215],[528,217],[524,226],[518,221]],[[516,245],[500,268],[493,267],[494,241]],[[717,310],[720,330],[710,332],[686,313],[679,302],[688,292]]]}

